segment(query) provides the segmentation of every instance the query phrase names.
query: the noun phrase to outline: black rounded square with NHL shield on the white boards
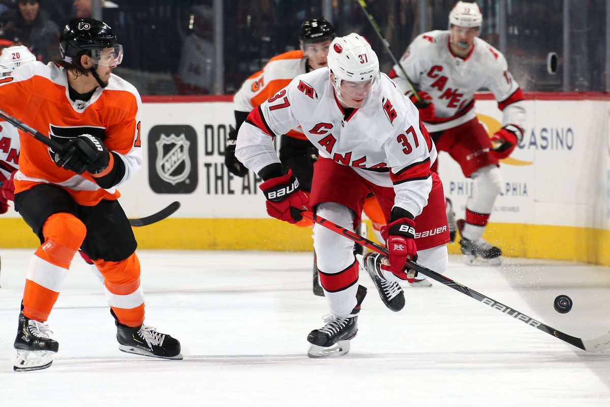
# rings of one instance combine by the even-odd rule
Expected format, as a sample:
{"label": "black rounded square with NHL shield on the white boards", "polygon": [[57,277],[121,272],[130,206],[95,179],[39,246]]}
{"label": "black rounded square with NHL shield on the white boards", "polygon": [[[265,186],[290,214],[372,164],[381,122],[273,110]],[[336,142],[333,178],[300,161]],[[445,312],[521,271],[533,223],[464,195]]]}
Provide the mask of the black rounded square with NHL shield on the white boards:
{"label": "black rounded square with NHL shield on the white boards", "polygon": [[148,156],[148,180],[154,192],[196,189],[197,134],[191,126],[154,126],[148,135]]}

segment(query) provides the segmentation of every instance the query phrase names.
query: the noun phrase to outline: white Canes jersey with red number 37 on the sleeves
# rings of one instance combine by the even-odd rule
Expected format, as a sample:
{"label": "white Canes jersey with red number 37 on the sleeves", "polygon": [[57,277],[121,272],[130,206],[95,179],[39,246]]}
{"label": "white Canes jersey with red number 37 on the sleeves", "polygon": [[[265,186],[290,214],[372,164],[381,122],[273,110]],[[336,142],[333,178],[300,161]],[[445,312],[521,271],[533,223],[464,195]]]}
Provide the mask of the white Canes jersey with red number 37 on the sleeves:
{"label": "white Canes jersey with red number 37 on the sleeves", "polygon": [[273,137],[301,126],[321,157],[393,187],[395,206],[419,215],[428,203],[430,165],[437,153],[415,106],[381,74],[364,106],[347,118],[344,114],[328,68],[297,76],[249,114],[237,137],[237,159],[256,173],[279,163]]}

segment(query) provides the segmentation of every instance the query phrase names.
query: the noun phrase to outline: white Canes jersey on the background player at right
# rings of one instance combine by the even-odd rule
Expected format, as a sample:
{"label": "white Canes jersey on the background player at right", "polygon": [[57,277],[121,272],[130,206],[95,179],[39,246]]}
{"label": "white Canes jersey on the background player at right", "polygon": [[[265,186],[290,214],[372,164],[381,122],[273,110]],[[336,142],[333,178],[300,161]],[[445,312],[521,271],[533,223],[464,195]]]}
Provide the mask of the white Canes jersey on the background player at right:
{"label": "white Canes jersey on the background player at right", "polygon": [[[503,111],[503,126],[515,124],[523,129],[523,93],[500,51],[477,37],[470,54],[462,59],[453,54],[449,41],[449,31],[418,35],[400,60],[414,87],[432,96],[436,118],[425,123],[428,131],[454,128],[475,118],[474,94],[481,88],[490,90],[497,99]],[[398,65],[390,77],[411,95]]]}

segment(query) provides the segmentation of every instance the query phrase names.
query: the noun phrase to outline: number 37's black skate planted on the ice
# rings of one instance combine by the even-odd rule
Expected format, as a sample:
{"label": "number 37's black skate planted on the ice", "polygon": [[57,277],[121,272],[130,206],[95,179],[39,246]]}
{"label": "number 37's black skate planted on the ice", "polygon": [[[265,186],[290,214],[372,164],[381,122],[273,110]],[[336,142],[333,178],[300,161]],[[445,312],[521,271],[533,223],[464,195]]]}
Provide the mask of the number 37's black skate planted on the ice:
{"label": "number 37's black skate planted on the ice", "polygon": [[307,356],[310,358],[325,358],[342,356],[350,351],[350,340],[358,332],[358,313],[366,295],[367,287],[358,286],[356,307],[350,315],[347,317],[337,317],[332,314],[325,316],[325,325],[307,335],[307,342],[311,344]]}

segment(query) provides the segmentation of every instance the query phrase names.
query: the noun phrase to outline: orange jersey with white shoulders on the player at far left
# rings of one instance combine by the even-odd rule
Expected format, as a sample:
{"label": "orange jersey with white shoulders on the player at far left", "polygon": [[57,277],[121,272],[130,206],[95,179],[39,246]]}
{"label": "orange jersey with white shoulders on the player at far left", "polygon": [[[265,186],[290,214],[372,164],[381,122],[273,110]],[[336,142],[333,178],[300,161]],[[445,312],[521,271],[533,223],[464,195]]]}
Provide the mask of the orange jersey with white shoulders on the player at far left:
{"label": "orange jersey with white shoulders on the player at far left", "polygon": [[[118,185],[132,178],[142,165],[142,101],[129,82],[111,75],[109,85],[98,87],[88,101],[72,101],[66,72],[53,63],[28,63],[4,79],[0,82],[0,109],[59,143],[81,134],[95,135],[125,164]],[[51,149],[29,134],[20,131],[20,142],[15,192],[37,184],[54,184],[66,189],[76,203],[87,206],[120,196],[115,187],[99,187],[87,172],[77,175],[57,167]]]}

